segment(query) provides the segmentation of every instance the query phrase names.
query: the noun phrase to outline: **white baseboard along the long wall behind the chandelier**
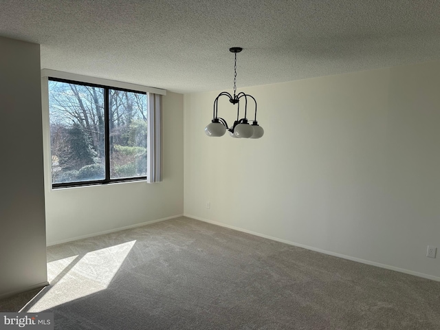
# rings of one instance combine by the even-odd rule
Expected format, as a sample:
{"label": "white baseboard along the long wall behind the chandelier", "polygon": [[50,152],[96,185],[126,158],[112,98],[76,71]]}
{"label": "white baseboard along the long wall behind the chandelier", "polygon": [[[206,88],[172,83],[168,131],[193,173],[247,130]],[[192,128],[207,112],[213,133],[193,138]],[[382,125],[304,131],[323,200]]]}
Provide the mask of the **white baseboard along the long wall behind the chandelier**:
{"label": "white baseboard along the long wall behind the chandelier", "polygon": [[281,243],[286,243],[286,244],[289,244],[289,245],[298,246],[299,248],[304,248],[304,249],[315,251],[315,252],[329,254],[330,256],[337,256],[338,258],[347,259],[347,260],[351,260],[351,261],[356,261],[358,263],[364,263],[366,265],[372,265],[372,266],[376,266],[376,267],[381,267],[381,268],[385,268],[386,270],[395,270],[396,272],[401,272],[401,273],[404,273],[404,274],[410,274],[410,275],[414,275],[414,276],[419,276],[419,277],[422,277],[422,278],[428,278],[429,280],[439,281],[440,282],[440,277],[437,277],[437,276],[432,276],[432,275],[429,275],[429,274],[414,272],[412,270],[405,270],[404,268],[399,268],[399,267],[394,267],[394,266],[390,266],[390,265],[385,265],[383,263],[376,263],[374,261],[369,261],[369,260],[365,260],[365,259],[355,258],[354,256],[347,256],[346,254],[339,254],[339,253],[335,253],[335,252],[331,252],[331,251],[327,251],[327,250],[322,250],[322,249],[314,248],[313,246],[304,245],[304,244],[300,244],[300,243],[295,243],[295,242],[292,242],[292,241],[287,241],[286,239],[278,239],[278,237],[269,236],[269,235],[266,235],[266,234],[261,234],[259,232],[253,232],[252,230],[246,230],[246,229],[243,229],[243,228],[235,227],[234,225],[227,225],[225,223],[221,223],[221,222],[217,222],[217,221],[212,221],[212,220],[208,220],[208,219],[203,219],[201,217],[195,217],[194,215],[191,215],[191,214],[184,214],[184,217],[196,219],[196,220],[203,221],[203,222],[212,223],[213,225],[220,225],[221,227],[230,228],[230,229],[233,229],[233,230],[238,230],[239,232],[246,232],[248,234],[252,234],[252,235],[255,235],[255,236],[263,237],[265,239],[272,239],[272,241],[278,241],[278,242],[281,242]]}

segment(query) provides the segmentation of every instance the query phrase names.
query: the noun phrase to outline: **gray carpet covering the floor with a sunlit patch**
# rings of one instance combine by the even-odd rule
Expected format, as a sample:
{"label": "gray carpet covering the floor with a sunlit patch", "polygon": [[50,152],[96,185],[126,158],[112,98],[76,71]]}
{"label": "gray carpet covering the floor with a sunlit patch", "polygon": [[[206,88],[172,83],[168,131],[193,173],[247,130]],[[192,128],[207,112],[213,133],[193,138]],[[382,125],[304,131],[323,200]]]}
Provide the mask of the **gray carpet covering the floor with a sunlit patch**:
{"label": "gray carpet covering the floor with a sunlit patch", "polygon": [[440,283],[180,218],[47,249],[56,329],[440,329]]}

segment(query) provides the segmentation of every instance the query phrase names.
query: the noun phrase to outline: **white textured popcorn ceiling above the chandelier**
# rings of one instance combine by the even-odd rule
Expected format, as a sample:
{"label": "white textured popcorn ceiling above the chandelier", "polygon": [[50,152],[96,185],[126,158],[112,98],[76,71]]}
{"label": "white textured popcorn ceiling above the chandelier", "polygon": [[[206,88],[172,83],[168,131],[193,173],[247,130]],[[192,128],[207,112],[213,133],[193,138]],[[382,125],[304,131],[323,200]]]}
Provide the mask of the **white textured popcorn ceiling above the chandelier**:
{"label": "white textured popcorn ceiling above the chandelier", "polygon": [[0,0],[0,35],[41,67],[177,92],[440,59],[435,0]]}

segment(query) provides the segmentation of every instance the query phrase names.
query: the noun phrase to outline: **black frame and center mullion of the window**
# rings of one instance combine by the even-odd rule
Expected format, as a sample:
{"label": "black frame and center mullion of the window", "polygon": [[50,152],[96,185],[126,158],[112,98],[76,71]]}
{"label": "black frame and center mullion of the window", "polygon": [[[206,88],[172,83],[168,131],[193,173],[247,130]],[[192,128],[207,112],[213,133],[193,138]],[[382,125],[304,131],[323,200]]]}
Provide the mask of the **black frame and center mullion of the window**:
{"label": "black frame and center mullion of the window", "polygon": [[[118,179],[111,179],[110,178],[110,115],[109,115],[109,89],[113,89],[116,91],[128,91],[131,93],[137,93],[137,94],[144,94],[147,97],[146,103],[148,104],[148,93],[145,91],[135,91],[133,89],[124,89],[120,87],[113,87],[108,85],[99,85],[99,84],[93,84],[93,83],[85,83],[78,80],[69,80],[69,79],[63,79],[63,78],[56,78],[52,76],[47,77],[47,82],[49,81],[58,81],[60,83],[67,83],[67,84],[75,84],[75,85],[83,85],[83,86],[90,86],[90,87],[98,87],[104,89],[104,143],[105,143],[105,178],[102,180],[90,180],[90,181],[75,181],[75,182],[62,182],[62,183],[52,183],[52,189],[57,188],[69,188],[69,187],[82,187],[82,186],[97,186],[97,185],[103,185],[103,184],[115,184],[120,182],[132,182],[132,181],[146,181],[146,175],[140,176],[140,177],[122,177]],[[49,116],[50,116],[50,110],[49,110]],[[52,151],[51,157],[52,157]],[[148,154],[148,148],[147,148],[147,154]],[[52,162],[50,164],[52,169]],[[52,177],[51,177],[52,181]]]}

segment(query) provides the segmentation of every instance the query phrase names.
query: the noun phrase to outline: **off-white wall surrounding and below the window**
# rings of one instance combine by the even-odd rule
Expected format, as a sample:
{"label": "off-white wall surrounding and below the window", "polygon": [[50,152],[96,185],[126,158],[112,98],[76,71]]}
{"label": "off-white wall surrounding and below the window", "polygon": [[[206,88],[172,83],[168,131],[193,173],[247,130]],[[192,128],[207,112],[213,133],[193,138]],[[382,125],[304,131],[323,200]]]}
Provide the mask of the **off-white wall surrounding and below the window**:
{"label": "off-white wall surrounding and below the window", "polygon": [[164,181],[56,190],[50,182],[49,117],[43,107],[48,245],[183,214],[183,95],[168,92],[162,100]]}

